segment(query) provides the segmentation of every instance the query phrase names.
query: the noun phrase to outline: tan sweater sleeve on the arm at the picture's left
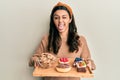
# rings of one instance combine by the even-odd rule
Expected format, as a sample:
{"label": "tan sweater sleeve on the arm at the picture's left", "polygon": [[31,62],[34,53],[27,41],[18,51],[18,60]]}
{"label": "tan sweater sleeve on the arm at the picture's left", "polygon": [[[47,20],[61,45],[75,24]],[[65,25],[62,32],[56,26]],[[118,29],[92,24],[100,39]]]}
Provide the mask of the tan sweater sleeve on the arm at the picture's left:
{"label": "tan sweater sleeve on the arm at the picture's left", "polygon": [[30,61],[29,61],[29,66],[34,66],[34,58],[35,57],[39,57],[39,55],[41,53],[45,53],[47,52],[47,44],[48,44],[48,37],[47,36],[44,36],[37,48],[37,50],[35,51],[35,53],[33,54],[33,56],[30,58]]}

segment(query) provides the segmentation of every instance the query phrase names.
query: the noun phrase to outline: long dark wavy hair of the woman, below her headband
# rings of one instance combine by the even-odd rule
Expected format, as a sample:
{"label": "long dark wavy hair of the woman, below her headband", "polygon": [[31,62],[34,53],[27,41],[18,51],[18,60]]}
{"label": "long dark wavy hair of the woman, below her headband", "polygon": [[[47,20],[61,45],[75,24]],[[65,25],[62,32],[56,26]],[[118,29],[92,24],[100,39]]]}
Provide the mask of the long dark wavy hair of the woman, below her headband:
{"label": "long dark wavy hair of the woman, below her headband", "polygon": [[65,10],[68,12],[69,17],[72,18],[71,23],[69,23],[69,32],[67,36],[67,45],[69,46],[69,51],[74,52],[78,51],[79,44],[79,35],[77,34],[77,27],[75,25],[74,15],[70,15],[69,10],[64,6],[56,6],[53,8],[50,15],[50,29],[49,29],[49,37],[48,37],[48,51],[53,52],[55,54],[58,53],[59,48],[61,46],[61,37],[59,35],[59,31],[56,29],[56,26],[53,21],[53,15],[57,10]]}

